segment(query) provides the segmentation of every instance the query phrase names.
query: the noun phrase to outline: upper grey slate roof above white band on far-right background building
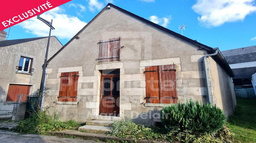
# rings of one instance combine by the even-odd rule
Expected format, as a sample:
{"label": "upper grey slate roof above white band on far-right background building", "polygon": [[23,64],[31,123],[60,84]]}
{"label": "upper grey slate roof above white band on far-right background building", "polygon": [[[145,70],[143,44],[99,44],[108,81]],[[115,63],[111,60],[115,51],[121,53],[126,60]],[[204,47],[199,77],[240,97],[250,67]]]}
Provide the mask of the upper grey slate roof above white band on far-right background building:
{"label": "upper grey slate roof above white band on far-right background building", "polygon": [[229,64],[256,61],[256,46],[222,51]]}

